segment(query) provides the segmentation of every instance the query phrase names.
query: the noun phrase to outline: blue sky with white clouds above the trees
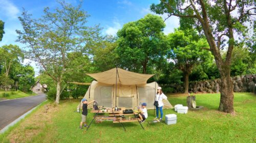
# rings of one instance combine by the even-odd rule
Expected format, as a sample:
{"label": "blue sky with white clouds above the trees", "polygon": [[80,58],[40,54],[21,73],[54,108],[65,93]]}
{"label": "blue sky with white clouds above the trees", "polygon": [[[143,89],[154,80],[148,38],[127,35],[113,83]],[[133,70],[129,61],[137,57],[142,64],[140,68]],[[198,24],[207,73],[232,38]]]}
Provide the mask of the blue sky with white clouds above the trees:
{"label": "blue sky with white clouds above the trees", "polygon": [[[67,3],[77,5],[78,0],[66,0]],[[84,0],[82,9],[87,11],[90,17],[88,18],[88,26],[100,24],[103,35],[116,35],[117,31],[122,28],[123,24],[136,21],[143,18],[150,11],[151,4],[158,4],[157,0]],[[54,0],[0,0],[0,19],[5,22],[5,34],[0,42],[0,46],[16,44],[20,48],[22,44],[15,42],[17,34],[15,30],[22,30],[22,25],[18,20],[21,16],[23,8],[32,14],[32,18],[40,18],[44,15],[44,8],[49,7],[51,10],[59,7],[59,4]],[[167,15],[160,15],[163,19]],[[179,26],[177,17],[170,17],[165,21],[166,27],[164,34],[172,33],[174,28]],[[24,64],[30,63],[35,69],[35,74],[38,75],[39,68],[33,61],[24,60]]]}

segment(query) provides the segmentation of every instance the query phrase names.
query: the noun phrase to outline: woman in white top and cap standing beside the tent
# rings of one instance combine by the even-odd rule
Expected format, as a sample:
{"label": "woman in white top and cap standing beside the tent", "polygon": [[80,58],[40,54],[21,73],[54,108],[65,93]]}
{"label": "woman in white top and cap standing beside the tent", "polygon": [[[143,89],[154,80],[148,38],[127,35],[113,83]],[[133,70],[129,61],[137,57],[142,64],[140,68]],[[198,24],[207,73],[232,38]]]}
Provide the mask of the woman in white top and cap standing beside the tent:
{"label": "woman in white top and cap standing beside the tent", "polygon": [[161,114],[161,118],[159,120],[163,119],[163,99],[167,99],[167,97],[163,94],[162,92],[162,88],[158,87],[157,88],[157,93],[156,93],[156,97],[155,97],[155,101],[158,101],[158,106],[156,106],[156,110],[157,110],[157,117],[158,118],[158,110],[160,110],[160,114]]}

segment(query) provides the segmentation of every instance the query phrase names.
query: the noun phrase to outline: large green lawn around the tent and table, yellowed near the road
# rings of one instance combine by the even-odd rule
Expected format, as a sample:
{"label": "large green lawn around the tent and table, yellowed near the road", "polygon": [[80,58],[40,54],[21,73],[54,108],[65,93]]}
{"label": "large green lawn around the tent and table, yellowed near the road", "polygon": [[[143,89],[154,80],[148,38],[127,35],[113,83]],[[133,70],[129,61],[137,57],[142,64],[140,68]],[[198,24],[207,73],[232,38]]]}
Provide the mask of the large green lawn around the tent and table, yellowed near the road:
{"label": "large green lawn around the tent and table, yellowed near the road", "polygon": [[[174,106],[186,105],[186,96],[169,95]],[[104,121],[91,128],[79,129],[81,115],[77,113],[78,100],[61,101],[58,106],[47,103],[25,118],[18,125],[0,135],[0,142],[255,142],[256,141],[256,96],[251,93],[235,93],[236,115],[217,111],[220,94],[198,94],[197,105],[205,108],[179,114],[174,109],[164,109],[164,115],[175,113],[175,125],[152,125],[142,123],[119,123]],[[149,103],[148,103],[149,104]],[[148,119],[154,118],[148,110]],[[89,113],[90,122],[93,114]]]}

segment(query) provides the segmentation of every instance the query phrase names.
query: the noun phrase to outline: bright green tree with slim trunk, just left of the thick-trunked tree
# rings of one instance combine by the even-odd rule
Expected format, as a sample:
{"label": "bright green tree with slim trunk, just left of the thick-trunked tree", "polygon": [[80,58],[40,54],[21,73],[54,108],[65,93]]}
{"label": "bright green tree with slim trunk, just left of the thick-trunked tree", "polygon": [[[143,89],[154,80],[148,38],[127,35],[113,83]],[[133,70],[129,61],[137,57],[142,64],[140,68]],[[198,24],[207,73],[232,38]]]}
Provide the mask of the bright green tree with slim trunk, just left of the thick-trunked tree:
{"label": "bright green tree with slim trunk, just left of the thick-trunked tree", "polygon": [[201,48],[209,47],[206,39],[199,38],[195,30],[175,30],[168,35],[168,42],[171,47],[170,58],[175,66],[183,72],[184,93],[188,93],[188,77],[192,69],[202,62],[213,60],[209,51]]}

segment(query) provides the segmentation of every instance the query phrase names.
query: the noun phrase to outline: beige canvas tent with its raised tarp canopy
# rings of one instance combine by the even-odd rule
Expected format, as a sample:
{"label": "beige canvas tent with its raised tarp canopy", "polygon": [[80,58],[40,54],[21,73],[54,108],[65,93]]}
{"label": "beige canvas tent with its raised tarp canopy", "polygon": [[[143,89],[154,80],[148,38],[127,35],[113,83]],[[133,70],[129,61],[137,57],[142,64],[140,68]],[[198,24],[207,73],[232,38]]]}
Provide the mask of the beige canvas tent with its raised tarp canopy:
{"label": "beige canvas tent with its raised tarp canopy", "polygon": [[[134,108],[140,103],[147,103],[147,109],[154,109],[157,82],[146,83],[154,74],[140,74],[114,68],[101,73],[87,74],[97,81],[92,81],[84,98],[97,100],[99,106]],[[173,108],[164,100],[164,108]],[[80,108],[82,103],[79,104]],[[78,105],[78,108],[79,108]],[[92,104],[89,106],[92,108]]]}

